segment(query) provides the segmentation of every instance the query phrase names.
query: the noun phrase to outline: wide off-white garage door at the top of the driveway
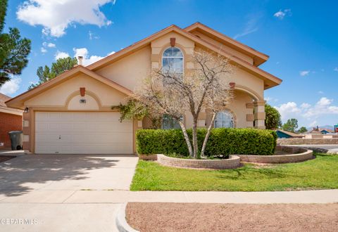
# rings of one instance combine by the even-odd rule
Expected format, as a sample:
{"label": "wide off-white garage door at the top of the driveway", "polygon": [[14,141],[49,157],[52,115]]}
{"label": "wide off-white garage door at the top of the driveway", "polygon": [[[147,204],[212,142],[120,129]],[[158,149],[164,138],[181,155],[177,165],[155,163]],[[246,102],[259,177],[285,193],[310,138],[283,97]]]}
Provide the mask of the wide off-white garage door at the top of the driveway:
{"label": "wide off-white garage door at the top of the driveway", "polygon": [[35,153],[132,154],[132,121],[119,112],[35,112]]}

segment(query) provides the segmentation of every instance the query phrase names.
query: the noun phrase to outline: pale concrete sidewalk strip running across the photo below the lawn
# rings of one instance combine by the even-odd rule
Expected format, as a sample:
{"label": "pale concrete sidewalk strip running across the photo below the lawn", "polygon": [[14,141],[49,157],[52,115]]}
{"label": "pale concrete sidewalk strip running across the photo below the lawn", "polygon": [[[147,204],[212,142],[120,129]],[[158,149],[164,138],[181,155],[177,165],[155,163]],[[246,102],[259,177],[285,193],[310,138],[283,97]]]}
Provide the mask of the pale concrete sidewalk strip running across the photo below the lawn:
{"label": "pale concrete sidewalk strip running across the photo below the lawn", "polygon": [[338,189],[285,192],[179,192],[179,191],[47,191],[25,195],[0,195],[6,203],[122,203],[122,202],[201,202],[201,203],[333,203]]}

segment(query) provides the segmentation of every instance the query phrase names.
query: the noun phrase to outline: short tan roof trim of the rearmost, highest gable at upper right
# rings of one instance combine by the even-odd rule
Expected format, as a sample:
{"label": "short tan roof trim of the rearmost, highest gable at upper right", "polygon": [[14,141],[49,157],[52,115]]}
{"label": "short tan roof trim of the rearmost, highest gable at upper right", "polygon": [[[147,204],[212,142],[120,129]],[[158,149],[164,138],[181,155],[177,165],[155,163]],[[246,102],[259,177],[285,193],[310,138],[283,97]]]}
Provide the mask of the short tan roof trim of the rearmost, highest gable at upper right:
{"label": "short tan roof trim of the rearmost, highest gable at upper right", "polygon": [[242,53],[246,54],[246,56],[250,56],[251,58],[253,58],[253,65],[255,66],[261,65],[269,58],[268,55],[261,53],[260,51],[257,51],[255,49],[252,49],[251,47],[245,44],[242,44],[241,42],[235,39],[227,37],[225,34],[222,34],[216,30],[213,30],[211,27],[208,27],[202,24],[201,22],[195,22],[189,27],[185,27],[184,30],[187,32],[194,32],[194,31],[201,32],[203,34],[206,34],[208,37],[215,39],[216,41],[220,41],[220,43],[222,44],[230,46],[230,48],[232,49],[241,51]]}

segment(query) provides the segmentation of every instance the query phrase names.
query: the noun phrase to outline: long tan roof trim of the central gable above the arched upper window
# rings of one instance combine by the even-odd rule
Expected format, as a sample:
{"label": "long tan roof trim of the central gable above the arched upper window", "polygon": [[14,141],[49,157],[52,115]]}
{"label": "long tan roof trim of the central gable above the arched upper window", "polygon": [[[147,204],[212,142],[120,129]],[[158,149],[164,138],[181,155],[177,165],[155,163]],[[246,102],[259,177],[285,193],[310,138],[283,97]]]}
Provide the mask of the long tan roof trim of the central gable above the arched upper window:
{"label": "long tan roof trim of the central gable above the arched upper window", "polygon": [[[191,39],[196,44],[199,44],[199,46],[202,46],[204,49],[209,49],[215,53],[220,53],[220,55],[228,58],[232,64],[235,64],[243,68],[247,72],[250,72],[251,74],[255,75],[256,77],[263,79],[265,84],[264,89],[269,89],[273,86],[277,86],[282,82],[282,79],[279,79],[274,75],[271,75],[270,73],[261,70],[255,65],[252,65],[251,63],[248,63],[245,60],[242,60],[241,58],[238,58],[237,56],[234,56],[233,54],[228,53],[227,51],[224,51],[223,49],[220,49],[213,44],[208,43],[204,39],[196,37],[194,34],[187,32],[187,30],[182,30],[180,27],[177,27],[176,25],[170,25],[169,27],[166,27],[165,29],[156,32],[155,34],[152,34],[151,36],[146,37],[145,39],[142,39],[137,43],[126,47],[125,49],[122,49],[116,53],[113,53],[110,56],[106,56],[105,58],[96,61],[95,63],[92,63],[91,65],[88,65],[87,68],[89,70],[95,71],[100,69],[101,67],[105,67],[106,65],[109,65],[114,61],[119,60],[120,58],[123,58],[129,55],[130,53],[133,53],[134,51],[138,51],[139,49],[148,46],[151,43],[151,41],[158,39],[159,37],[162,37],[163,35],[168,34],[169,32],[176,32],[177,34],[181,34],[182,36]],[[240,43],[237,42],[237,44]]]}

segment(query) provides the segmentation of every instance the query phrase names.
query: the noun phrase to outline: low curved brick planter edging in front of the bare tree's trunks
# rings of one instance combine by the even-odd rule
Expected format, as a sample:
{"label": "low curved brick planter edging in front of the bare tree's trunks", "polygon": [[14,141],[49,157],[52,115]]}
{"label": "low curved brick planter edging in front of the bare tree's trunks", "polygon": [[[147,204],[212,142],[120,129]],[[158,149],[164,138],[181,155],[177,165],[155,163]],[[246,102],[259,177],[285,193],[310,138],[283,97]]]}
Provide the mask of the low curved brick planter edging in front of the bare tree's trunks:
{"label": "low curved brick planter edging in front of the bare tree's trunks", "polygon": [[189,160],[158,154],[157,162],[165,166],[196,169],[232,169],[241,165],[237,155],[230,155],[229,159],[224,160]]}

